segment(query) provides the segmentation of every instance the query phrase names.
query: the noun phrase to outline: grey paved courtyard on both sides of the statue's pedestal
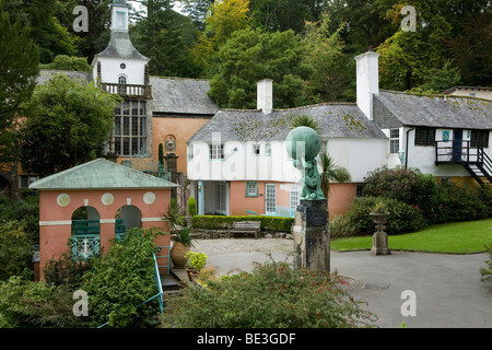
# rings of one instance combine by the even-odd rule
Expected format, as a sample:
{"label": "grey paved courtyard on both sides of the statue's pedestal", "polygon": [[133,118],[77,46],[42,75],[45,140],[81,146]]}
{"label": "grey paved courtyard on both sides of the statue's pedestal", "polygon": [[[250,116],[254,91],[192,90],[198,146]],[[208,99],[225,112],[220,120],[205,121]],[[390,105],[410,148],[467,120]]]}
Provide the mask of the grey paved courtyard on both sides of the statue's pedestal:
{"label": "grey paved courtyard on both sides of the statue's pedestal", "polygon": [[[250,271],[253,261],[292,258],[293,242],[279,238],[197,240],[194,250],[209,256],[219,273]],[[352,279],[351,294],[368,303],[383,328],[492,328],[492,285],[480,281],[487,254],[449,255],[391,252],[331,252],[331,270]],[[403,291],[415,296],[415,316],[402,316]]]}

